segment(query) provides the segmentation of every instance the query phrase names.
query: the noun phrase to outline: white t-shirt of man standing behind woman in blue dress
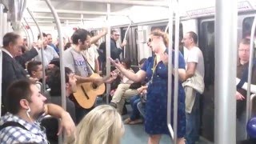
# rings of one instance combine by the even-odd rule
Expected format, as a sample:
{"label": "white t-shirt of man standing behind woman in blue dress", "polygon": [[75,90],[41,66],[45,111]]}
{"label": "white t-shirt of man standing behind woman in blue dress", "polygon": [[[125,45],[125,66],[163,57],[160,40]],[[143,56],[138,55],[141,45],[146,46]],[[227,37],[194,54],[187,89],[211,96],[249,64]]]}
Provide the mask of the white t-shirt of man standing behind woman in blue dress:
{"label": "white t-shirt of man standing behind woman in blue dress", "polygon": [[186,68],[187,68],[188,62],[196,62],[197,63],[196,70],[202,76],[202,78],[204,78],[205,65],[204,65],[204,60],[202,56],[202,51],[198,47],[194,46],[190,50],[184,47],[184,59],[186,62]]}

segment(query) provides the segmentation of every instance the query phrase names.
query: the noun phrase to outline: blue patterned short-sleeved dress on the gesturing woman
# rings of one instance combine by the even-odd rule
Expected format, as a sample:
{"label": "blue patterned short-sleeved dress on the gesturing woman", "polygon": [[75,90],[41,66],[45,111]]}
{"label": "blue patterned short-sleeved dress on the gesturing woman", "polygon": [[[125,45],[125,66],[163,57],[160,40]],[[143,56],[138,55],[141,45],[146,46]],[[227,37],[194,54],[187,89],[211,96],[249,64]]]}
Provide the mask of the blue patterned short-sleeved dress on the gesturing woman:
{"label": "blue patterned short-sleeved dress on the gesturing woman", "polygon": [[[174,62],[174,51],[173,62]],[[156,64],[155,64],[156,65]],[[174,65],[173,65],[174,66]],[[151,78],[153,74],[154,57],[150,57],[142,66],[142,70],[146,71],[146,76]],[[181,53],[178,57],[178,68],[185,69],[185,61]],[[146,96],[146,118],[145,130],[147,134],[170,134],[167,127],[167,86],[168,74],[167,67],[163,62],[158,62],[154,70],[153,80],[147,89]],[[174,76],[172,75],[173,80]],[[172,82],[172,92],[174,92],[174,81]],[[174,102],[172,94],[172,102]],[[171,116],[173,117],[173,106]],[[173,126],[173,122],[172,126]],[[185,91],[182,82],[178,82],[178,138],[184,137],[186,134],[186,115],[185,115]]]}

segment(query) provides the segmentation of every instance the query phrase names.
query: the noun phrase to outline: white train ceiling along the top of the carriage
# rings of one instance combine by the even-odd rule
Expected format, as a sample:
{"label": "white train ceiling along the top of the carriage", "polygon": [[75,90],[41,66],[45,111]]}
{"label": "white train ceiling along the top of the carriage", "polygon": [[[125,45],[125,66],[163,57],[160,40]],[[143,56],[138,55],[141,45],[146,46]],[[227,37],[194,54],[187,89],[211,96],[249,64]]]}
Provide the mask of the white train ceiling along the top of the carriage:
{"label": "white train ceiling along the top of the carriage", "polygon": [[[44,26],[54,26],[54,17],[50,13],[45,0],[0,0],[8,7],[10,21],[26,22],[34,24],[28,7],[37,22]],[[50,0],[62,25],[90,25],[106,21],[107,2],[110,3],[110,25],[125,25],[130,21],[150,22],[167,19],[170,15],[168,5],[170,0]],[[207,16],[214,13],[214,0],[179,0],[179,12],[182,18]],[[256,10],[255,0],[238,0],[238,9]],[[24,10],[24,13],[21,11]],[[21,18],[21,16],[23,16]]]}

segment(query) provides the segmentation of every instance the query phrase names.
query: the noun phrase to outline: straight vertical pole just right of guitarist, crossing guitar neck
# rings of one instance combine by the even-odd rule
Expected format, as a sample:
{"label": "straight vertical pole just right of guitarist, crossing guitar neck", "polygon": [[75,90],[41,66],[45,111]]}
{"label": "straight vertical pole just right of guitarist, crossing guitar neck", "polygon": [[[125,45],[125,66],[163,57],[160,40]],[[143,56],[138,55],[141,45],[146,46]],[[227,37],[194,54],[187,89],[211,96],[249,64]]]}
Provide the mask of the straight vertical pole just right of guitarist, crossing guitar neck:
{"label": "straight vertical pole just right of guitarist, crossing guitar neck", "polygon": [[[110,75],[110,4],[107,7],[107,34],[106,34],[106,75]],[[106,84],[106,104],[109,103],[110,84]]]}

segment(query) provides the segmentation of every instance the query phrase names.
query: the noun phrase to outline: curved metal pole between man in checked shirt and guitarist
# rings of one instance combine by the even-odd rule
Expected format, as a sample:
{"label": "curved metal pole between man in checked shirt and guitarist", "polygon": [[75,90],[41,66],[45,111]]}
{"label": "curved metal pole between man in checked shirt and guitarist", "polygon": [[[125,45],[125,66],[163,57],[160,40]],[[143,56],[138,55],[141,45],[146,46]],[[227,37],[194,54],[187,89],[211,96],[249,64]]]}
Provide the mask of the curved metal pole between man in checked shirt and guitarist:
{"label": "curved metal pole between man in checked shirt and guitarist", "polygon": [[[62,108],[64,110],[66,110],[66,81],[65,81],[65,69],[64,69],[64,63],[63,63],[63,38],[62,38],[62,25],[61,22],[58,18],[58,14],[56,12],[56,10],[54,9],[54,6],[52,6],[50,0],[46,0],[47,6],[49,6],[51,13],[54,15],[54,19],[57,25],[57,29],[58,29],[58,41],[59,41],[59,53],[60,53],[60,71],[61,71],[61,83],[62,83]],[[59,136],[59,141],[58,143],[64,143],[63,139],[65,138],[65,134],[63,135],[63,137]],[[63,138],[63,139],[61,139]],[[62,140],[62,142],[61,142]]]}

